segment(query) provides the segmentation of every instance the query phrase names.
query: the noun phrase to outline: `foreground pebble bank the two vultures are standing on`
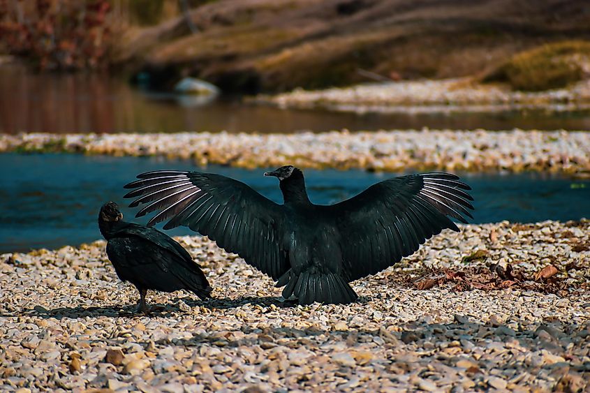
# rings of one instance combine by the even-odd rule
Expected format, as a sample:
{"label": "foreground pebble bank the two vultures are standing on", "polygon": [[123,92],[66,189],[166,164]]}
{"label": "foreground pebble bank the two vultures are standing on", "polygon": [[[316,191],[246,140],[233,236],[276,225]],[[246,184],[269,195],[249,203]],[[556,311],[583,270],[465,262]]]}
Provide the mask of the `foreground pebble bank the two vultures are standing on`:
{"label": "foreground pebble bank the two vultures are standing on", "polygon": [[[270,279],[200,237],[179,240],[216,299],[150,292],[161,305],[152,316],[131,314],[138,294],[116,278],[105,242],[1,255],[0,384],[7,392],[583,389],[590,222],[462,229],[355,281],[360,301],[347,306],[282,302]],[[560,272],[473,289],[484,281],[470,272],[492,264],[529,279],[549,264]],[[416,288],[459,270],[463,280]]]}

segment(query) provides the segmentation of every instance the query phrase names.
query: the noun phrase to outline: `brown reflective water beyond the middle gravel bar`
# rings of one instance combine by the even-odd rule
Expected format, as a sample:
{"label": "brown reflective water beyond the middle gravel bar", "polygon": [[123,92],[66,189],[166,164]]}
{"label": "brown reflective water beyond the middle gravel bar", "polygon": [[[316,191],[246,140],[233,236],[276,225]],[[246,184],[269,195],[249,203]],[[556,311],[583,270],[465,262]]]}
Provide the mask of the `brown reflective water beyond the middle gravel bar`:
{"label": "brown reflective water beyond the middle gravel bar", "polygon": [[219,99],[145,94],[101,74],[34,74],[0,67],[0,132],[295,132],[406,128],[590,130],[590,111],[363,113],[281,110]]}

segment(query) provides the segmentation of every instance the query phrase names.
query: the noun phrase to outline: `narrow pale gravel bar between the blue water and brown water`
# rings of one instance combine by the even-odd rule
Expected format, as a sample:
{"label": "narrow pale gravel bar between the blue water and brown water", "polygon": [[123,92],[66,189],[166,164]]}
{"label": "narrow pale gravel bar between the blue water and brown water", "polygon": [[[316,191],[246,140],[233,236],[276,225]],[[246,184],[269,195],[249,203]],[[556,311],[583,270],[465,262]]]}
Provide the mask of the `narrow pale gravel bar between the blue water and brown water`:
{"label": "narrow pale gravel bar between the blue water and brown water", "polygon": [[[0,151],[71,151],[193,158],[242,168],[590,171],[584,131],[376,131],[295,134],[0,135]],[[587,175],[587,174],[586,174]]]}

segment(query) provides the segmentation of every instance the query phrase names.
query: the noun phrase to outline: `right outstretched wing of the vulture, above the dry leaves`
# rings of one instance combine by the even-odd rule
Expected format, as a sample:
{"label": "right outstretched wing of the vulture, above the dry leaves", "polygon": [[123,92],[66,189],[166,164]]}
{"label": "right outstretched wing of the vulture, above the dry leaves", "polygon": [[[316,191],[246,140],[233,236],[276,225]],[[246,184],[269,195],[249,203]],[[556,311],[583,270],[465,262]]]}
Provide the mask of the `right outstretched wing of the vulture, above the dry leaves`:
{"label": "right outstretched wing of the vulture, above the dry leaves", "polygon": [[411,255],[441,230],[459,231],[448,216],[466,223],[473,209],[469,186],[448,173],[381,181],[355,197],[327,206],[337,217],[348,281],[381,272]]}

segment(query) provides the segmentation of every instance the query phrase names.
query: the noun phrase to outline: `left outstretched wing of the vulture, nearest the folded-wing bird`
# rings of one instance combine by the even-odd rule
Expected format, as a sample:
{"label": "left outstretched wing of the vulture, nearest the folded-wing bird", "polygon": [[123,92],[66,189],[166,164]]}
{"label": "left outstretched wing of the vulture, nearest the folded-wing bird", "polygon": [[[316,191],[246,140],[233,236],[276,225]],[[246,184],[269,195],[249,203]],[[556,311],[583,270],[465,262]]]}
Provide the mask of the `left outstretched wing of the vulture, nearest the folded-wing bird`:
{"label": "left outstretched wing of the vulture, nearest the folded-wing bird", "polygon": [[139,197],[130,207],[149,203],[137,217],[158,211],[147,225],[170,218],[164,229],[188,226],[273,279],[288,270],[281,205],[241,181],[211,173],[160,170],[138,179],[125,186],[138,189],[124,198]]}

